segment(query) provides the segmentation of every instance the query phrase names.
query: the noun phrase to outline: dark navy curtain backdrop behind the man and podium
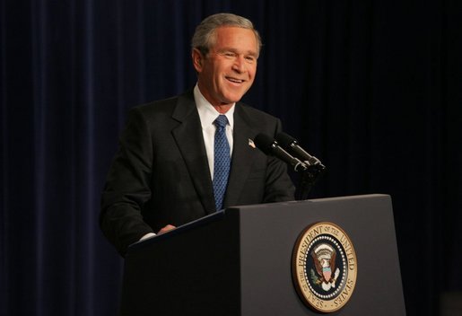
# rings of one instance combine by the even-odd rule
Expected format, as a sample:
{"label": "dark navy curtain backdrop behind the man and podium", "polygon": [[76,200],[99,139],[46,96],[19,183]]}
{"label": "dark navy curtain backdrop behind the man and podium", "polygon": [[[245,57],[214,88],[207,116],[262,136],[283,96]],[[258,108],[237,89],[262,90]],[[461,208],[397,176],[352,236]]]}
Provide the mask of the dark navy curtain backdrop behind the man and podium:
{"label": "dark navy curtain backdrop behind the man and podium", "polygon": [[218,12],[262,33],[245,101],[327,165],[310,198],[390,194],[407,312],[438,315],[462,291],[458,0],[2,0],[0,314],[115,314],[98,214],[126,111],[194,85]]}

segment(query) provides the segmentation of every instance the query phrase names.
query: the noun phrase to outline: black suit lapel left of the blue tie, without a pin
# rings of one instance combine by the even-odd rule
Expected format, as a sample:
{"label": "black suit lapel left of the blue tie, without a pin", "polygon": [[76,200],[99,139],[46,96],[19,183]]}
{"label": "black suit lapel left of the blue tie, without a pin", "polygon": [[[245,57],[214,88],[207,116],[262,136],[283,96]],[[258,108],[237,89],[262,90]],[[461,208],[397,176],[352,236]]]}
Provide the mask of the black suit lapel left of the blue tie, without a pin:
{"label": "black suit lapel left of the blue tie, without a pin", "polygon": [[213,213],[215,208],[214,189],[208,171],[209,166],[201,122],[192,92],[187,92],[179,97],[172,118],[181,123],[172,130],[172,134],[187,165],[197,196],[200,198],[205,212],[207,214]]}

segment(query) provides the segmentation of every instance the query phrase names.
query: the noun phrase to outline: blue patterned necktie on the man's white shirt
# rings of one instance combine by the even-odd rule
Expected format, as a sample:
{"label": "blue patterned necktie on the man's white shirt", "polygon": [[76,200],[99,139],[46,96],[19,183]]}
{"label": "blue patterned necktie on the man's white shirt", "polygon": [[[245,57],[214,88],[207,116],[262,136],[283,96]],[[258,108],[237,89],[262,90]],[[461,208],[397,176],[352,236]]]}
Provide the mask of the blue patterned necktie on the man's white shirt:
{"label": "blue patterned necktie on the man's white shirt", "polygon": [[214,139],[214,198],[215,207],[219,211],[222,209],[224,193],[228,185],[228,176],[230,174],[231,156],[230,145],[226,138],[226,125],[228,118],[225,115],[219,115],[214,120],[216,127]]}

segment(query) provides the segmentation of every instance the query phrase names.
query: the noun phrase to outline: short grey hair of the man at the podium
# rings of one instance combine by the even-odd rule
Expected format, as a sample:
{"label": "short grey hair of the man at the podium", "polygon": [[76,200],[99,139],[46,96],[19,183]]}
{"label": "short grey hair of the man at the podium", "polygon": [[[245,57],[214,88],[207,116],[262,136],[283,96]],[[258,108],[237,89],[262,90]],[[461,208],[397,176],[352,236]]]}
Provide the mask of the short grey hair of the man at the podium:
{"label": "short grey hair of the man at the podium", "polygon": [[232,13],[216,13],[206,17],[197,25],[193,39],[191,40],[191,47],[199,49],[206,56],[210,48],[215,44],[215,31],[222,26],[232,26],[253,31],[257,39],[257,54],[260,53],[262,42],[260,34],[254,28],[254,24],[250,20]]}

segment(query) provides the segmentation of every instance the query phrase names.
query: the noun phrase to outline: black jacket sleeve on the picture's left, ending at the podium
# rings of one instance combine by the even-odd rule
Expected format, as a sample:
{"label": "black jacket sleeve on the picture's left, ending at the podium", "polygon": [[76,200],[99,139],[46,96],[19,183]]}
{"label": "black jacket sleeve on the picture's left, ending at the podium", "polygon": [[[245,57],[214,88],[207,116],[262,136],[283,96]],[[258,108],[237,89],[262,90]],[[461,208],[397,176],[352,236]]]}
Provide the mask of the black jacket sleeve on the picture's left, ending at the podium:
{"label": "black jacket sleeve on the picture's left, ending at the podium", "polygon": [[130,244],[153,233],[141,214],[152,194],[152,143],[148,122],[140,110],[131,110],[109,167],[100,209],[100,228],[122,256]]}

